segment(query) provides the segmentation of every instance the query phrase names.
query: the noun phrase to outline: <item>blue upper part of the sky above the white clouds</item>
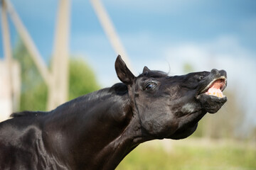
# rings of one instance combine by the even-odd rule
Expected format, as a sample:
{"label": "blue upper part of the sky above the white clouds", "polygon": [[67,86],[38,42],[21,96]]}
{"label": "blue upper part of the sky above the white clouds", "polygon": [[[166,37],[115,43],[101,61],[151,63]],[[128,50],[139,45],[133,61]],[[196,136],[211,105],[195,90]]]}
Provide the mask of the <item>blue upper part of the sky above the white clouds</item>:
{"label": "blue upper part of the sky above the white clouds", "polygon": [[[159,52],[166,45],[211,41],[223,35],[235,37],[240,45],[255,52],[256,1],[102,2],[132,59],[146,55],[160,57]],[[12,0],[12,3],[48,60],[58,1]],[[95,57],[92,55],[97,53],[105,53],[106,57],[115,55],[89,1],[72,1],[71,11],[70,53],[91,55],[88,57]],[[14,45],[17,35],[13,26],[11,28]],[[0,47],[2,51],[2,45]]]}

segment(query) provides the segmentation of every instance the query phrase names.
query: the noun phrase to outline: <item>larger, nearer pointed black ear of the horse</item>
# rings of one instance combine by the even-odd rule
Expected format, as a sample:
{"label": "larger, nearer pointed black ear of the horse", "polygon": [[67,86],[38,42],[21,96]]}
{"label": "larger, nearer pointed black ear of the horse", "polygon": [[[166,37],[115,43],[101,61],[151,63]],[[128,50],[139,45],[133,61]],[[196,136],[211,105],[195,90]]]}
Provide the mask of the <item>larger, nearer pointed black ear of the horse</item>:
{"label": "larger, nearer pointed black ear of the horse", "polygon": [[117,60],[114,63],[117,77],[126,85],[131,85],[134,81],[134,74],[128,69],[125,62],[122,60],[120,55],[117,56]]}

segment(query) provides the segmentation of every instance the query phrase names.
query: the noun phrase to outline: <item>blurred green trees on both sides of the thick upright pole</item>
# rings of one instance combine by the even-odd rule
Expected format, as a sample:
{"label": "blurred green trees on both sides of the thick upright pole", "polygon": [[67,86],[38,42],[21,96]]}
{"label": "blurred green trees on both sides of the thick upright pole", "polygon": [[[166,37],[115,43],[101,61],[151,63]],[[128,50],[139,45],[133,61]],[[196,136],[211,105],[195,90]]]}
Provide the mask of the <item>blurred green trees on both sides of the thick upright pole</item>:
{"label": "blurred green trees on both sides of the thick upright pole", "polygon": [[[21,40],[14,48],[14,58],[21,64],[20,111],[46,111],[47,86]],[[69,99],[100,89],[85,60],[70,58],[69,64]]]}

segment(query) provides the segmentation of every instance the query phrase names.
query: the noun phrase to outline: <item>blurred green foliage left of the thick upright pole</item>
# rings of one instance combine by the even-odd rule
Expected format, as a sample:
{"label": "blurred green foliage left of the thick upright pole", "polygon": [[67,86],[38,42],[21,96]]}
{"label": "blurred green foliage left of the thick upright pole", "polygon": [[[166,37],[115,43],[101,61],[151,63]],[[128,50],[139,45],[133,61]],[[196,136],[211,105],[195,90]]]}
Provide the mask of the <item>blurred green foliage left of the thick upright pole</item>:
{"label": "blurred green foliage left of the thick upright pole", "polygon": [[45,111],[47,87],[26,47],[19,40],[14,49],[14,58],[21,64],[20,110]]}

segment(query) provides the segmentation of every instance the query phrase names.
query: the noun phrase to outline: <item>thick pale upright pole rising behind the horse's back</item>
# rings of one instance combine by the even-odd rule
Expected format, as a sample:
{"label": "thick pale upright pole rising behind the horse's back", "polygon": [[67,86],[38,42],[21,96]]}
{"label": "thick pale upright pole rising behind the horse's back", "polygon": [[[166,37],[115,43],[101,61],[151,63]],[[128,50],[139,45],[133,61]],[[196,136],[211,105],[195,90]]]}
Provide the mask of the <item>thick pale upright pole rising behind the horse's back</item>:
{"label": "thick pale upright pole rising behind the horse's back", "polygon": [[53,79],[48,86],[48,110],[68,99],[70,0],[60,0],[58,10],[51,68]]}

